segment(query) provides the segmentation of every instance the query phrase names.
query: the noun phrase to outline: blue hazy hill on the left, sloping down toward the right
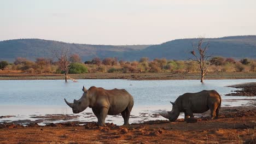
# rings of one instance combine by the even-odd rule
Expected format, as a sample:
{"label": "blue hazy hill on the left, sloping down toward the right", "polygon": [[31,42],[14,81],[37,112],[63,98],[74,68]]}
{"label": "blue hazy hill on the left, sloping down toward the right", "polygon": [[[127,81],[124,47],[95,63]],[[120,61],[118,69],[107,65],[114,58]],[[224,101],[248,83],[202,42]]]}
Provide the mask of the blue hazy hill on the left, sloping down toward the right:
{"label": "blue hazy hill on the left, sloping down toward the right", "polygon": [[54,50],[65,48],[69,49],[71,53],[78,53],[85,61],[94,57],[120,57],[123,52],[137,51],[148,46],[150,45],[88,45],[43,39],[14,39],[0,41],[0,60],[12,62],[16,57],[26,57],[30,60],[34,60],[37,57],[53,58]]}

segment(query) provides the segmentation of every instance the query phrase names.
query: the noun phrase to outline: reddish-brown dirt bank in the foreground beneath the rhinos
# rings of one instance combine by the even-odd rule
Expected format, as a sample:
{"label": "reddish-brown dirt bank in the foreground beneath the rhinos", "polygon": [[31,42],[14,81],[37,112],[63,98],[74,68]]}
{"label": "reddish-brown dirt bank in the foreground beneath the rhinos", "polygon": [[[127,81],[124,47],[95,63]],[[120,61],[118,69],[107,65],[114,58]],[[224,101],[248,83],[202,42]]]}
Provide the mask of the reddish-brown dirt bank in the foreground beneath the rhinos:
{"label": "reddish-brown dirt bank in the foreground beneath the rhinos", "polygon": [[149,121],[129,127],[68,122],[0,124],[0,143],[255,143],[256,107],[222,107],[220,118],[196,123]]}

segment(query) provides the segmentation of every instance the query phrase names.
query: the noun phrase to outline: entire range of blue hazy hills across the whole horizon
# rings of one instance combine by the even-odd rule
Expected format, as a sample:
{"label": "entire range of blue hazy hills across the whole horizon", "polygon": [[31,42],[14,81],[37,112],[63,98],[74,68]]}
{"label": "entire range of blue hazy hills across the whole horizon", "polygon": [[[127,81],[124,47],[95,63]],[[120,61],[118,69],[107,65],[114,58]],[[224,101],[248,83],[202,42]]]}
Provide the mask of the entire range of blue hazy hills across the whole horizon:
{"label": "entire range of blue hazy hills across the whole horizon", "polygon": [[[192,43],[197,39],[177,39],[160,45],[88,45],[71,44],[43,39],[15,39],[0,41],[0,61],[13,62],[16,57],[34,60],[37,57],[53,58],[53,50],[69,49],[78,53],[83,61],[94,57],[118,57],[125,61],[141,57],[188,59],[191,57]],[[256,58],[256,35],[205,39],[210,43],[208,53],[213,56],[232,58]]]}

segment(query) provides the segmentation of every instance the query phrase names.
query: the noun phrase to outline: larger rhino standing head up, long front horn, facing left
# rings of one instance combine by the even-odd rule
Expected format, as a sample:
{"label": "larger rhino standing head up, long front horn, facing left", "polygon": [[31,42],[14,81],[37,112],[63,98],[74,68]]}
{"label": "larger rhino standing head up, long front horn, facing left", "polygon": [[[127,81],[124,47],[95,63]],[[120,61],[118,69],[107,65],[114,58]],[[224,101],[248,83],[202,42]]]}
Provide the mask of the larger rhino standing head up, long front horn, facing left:
{"label": "larger rhino standing head up, long front horn, facing left", "polygon": [[98,119],[98,125],[105,125],[107,115],[121,115],[124,118],[124,125],[129,125],[129,117],[133,107],[133,97],[125,89],[106,90],[103,88],[90,87],[86,90],[83,87],[83,95],[74,103],[65,102],[73,110],[73,113],[84,111],[88,106],[92,109]]}

